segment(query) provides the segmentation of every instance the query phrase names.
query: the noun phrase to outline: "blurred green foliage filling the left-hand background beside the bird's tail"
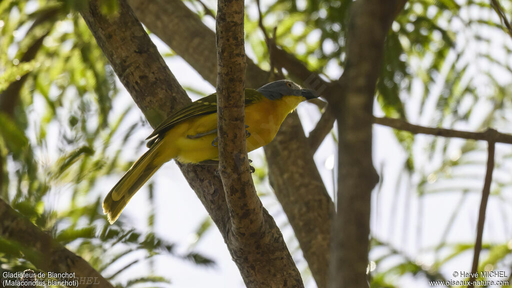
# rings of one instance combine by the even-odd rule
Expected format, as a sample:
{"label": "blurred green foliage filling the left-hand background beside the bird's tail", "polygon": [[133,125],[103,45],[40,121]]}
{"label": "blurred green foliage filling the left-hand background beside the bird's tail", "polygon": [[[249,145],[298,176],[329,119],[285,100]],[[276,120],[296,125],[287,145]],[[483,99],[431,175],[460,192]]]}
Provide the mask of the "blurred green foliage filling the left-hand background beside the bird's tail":
{"label": "blurred green foliage filling the left-hand background beside the bird's tail", "polygon": [[[127,116],[132,104],[113,109],[116,77],[76,12],[86,4],[0,2],[0,197],[113,283],[168,286],[157,275],[118,275],[157,255],[213,262],[176,252],[153,230],[154,215],[140,232],[123,217],[110,225],[102,213],[95,188],[104,190],[103,177],[131,166],[121,148],[141,121]],[[105,14],[117,10],[117,1],[102,5]],[[26,260],[32,252],[0,241],[0,272],[35,269]]]}

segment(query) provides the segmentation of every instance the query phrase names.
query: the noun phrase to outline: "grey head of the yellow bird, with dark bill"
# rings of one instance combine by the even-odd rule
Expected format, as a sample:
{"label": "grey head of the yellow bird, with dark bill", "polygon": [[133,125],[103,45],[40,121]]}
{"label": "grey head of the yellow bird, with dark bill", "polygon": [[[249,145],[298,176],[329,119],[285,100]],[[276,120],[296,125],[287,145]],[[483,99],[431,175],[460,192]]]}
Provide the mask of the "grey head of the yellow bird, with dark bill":
{"label": "grey head of the yellow bird, with dark bill", "polygon": [[300,86],[288,80],[273,81],[260,87],[258,92],[270,100],[278,100],[283,98],[283,96],[302,96],[306,98],[306,100],[318,97],[315,91],[302,89]]}

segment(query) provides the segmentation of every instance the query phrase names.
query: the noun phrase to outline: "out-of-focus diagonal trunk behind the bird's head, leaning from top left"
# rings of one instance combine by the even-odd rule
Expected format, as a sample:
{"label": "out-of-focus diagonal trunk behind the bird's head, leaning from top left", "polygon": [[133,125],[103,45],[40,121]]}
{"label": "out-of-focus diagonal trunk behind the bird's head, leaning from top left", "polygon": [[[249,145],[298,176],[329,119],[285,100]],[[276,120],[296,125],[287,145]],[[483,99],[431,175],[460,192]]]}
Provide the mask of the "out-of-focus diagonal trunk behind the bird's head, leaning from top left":
{"label": "out-of-focus diagonal trunk behind the bird's head, leaning from top left", "polygon": [[[144,25],[164,40],[210,84],[216,85],[215,34],[201,22],[194,12],[190,11],[180,0],[151,2],[128,0],[128,2]],[[294,73],[294,71],[289,72]],[[269,78],[269,73],[260,69],[250,59],[247,59],[246,75],[245,86],[249,88],[258,88]],[[303,75],[306,74],[302,69],[301,74],[297,75],[295,80],[302,84],[314,84],[312,80],[315,78],[309,78],[309,76],[304,78]],[[325,285],[322,283],[327,282],[325,279],[328,271],[327,258],[330,238],[328,231],[331,226],[332,215],[330,213],[333,204],[329,195],[324,193],[326,189],[314,164],[312,153],[301,153],[300,151],[295,153],[290,149],[295,146],[308,147],[308,141],[304,137],[295,136],[301,134],[304,134],[304,130],[300,120],[295,113],[291,114],[283,123],[278,135],[265,147],[265,152],[269,159],[269,175],[288,175],[283,177],[284,180],[272,181],[271,184],[276,196],[282,202],[283,209],[301,247],[309,247],[308,249],[303,248],[304,257],[308,261],[318,287],[323,288]],[[276,156],[283,151],[289,151],[290,157]],[[270,158],[275,160],[270,160]],[[306,164],[296,166],[297,162]],[[297,181],[297,179],[301,179],[301,181]],[[318,190],[310,190],[311,186],[303,185],[305,182],[314,183],[312,186],[316,185],[319,187]],[[294,197],[289,198],[290,195]],[[321,199],[316,202],[318,211],[304,213],[311,207],[311,197],[317,200]],[[305,225],[304,223],[315,224]],[[323,241],[319,241],[319,239],[323,239]]]}

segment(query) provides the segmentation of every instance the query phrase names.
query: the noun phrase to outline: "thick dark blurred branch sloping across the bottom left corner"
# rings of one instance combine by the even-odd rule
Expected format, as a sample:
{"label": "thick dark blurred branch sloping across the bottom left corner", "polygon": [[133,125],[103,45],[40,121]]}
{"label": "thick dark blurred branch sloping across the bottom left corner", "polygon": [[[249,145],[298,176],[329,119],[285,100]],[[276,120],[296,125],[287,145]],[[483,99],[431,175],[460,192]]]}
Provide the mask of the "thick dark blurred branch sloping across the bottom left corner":
{"label": "thick dark blurred branch sloping across the bottom left corner", "polygon": [[91,280],[83,282],[80,287],[92,288],[98,283],[100,287],[114,287],[86,260],[42,232],[29,219],[14,211],[3,199],[0,199],[0,237],[23,245],[24,249],[30,251],[31,253],[24,253],[24,256],[37,269],[55,273],[75,273],[75,276],[80,278],[80,283],[83,278]]}

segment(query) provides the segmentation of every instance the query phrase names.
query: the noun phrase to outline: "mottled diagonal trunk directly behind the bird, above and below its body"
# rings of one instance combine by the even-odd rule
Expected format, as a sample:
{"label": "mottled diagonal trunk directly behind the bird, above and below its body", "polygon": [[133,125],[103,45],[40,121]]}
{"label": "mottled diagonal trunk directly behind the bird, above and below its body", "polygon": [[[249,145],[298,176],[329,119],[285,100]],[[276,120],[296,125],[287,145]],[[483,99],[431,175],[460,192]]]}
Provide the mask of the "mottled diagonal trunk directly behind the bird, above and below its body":
{"label": "mottled diagonal trunk directly behind the bird, above and below its body", "polygon": [[[153,126],[190,101],[124,0],[119,1],[115,15],[101,14],[98,1],[91,1],[89,8],[80,13],[119,79]],[[253,246],[241,245],[237,238],[230,236],[233,214],[226,204],[217,168],[180,163],[179,166],[224,236],[248,286],[302,286],[302,283],[295,284],[300,275],[281,232],[264,209],[262,234],[265,237]],[[251,257],[247,257],[246,250],[252,251]]]}

